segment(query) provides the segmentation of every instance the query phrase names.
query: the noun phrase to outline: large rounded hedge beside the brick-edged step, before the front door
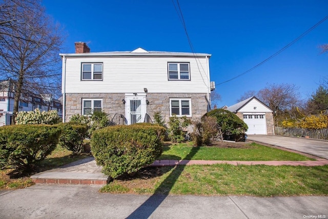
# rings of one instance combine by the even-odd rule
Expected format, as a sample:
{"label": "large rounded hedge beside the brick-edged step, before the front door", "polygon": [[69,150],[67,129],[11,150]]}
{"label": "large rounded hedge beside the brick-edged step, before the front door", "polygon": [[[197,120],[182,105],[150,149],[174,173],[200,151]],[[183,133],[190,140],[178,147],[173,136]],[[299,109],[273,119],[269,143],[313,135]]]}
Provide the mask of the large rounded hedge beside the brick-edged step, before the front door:
{"label": "large rounded hedge beside the brick-edged step, before the front door", "polygon": [[151,124],[110,126],[93,132],[91,150],[103,172],[116,178],[152,164],[162,152],[165,128]]}

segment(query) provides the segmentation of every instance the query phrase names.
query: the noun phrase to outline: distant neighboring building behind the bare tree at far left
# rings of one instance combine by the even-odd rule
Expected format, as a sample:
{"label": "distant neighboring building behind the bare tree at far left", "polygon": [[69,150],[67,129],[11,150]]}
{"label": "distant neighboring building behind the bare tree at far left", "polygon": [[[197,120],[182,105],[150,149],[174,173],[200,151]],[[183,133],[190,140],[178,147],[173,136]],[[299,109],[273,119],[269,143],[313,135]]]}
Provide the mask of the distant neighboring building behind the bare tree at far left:
{"label": "distant neighboring building behind the bare tree at far left", "polygon": [[[0,82],[0,126],[11,125],[14,93],[14,83],[11,81]],[[57,110],[60,117],[63,115],[63,105],[57,99],[51,98],[51,95],[37,95],[29,91],[23,91],[20,94],[18,112],[34,111],[36,108],[40,111]]]}

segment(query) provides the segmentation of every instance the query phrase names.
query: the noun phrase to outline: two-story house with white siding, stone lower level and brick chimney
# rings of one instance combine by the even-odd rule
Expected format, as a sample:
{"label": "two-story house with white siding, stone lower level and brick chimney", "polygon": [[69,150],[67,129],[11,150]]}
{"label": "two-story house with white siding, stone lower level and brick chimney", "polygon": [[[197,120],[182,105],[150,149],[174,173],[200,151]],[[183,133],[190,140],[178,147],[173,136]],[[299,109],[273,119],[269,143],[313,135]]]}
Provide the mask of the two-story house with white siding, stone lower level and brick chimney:
{"label": "two-story house with white siding, stone lower level and brick chimney", "polygon": [[200,118],[211,109],[211,54],[90,52],[82,42],[75,43],[75,52],[60,54],[64,122],[101,110],[116,124],[148,122],[155,112],[168,122],[173,114]]}

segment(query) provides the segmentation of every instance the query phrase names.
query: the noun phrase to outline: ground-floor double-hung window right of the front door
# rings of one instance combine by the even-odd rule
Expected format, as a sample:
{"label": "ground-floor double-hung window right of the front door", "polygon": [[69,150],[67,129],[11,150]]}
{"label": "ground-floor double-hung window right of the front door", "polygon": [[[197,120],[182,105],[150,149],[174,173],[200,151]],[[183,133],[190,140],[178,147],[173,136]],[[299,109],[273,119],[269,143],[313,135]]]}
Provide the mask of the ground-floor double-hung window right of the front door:
{"label": "ground-floor double-hung window right of the front door", "polygon": [[191,99],[170,99],[170,115],[191,116]]}

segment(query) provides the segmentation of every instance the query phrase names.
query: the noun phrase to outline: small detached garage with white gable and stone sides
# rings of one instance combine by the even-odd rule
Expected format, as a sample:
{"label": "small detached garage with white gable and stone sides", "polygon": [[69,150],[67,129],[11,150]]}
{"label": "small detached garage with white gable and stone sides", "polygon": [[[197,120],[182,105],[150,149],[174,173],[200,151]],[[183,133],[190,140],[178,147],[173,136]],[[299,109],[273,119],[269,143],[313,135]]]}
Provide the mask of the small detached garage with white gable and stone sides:
{"label": "small detached garage with white gable and stone sides", "polygon": [[274,135],[273,110],[252,96],[228,107],[248,125],[247,134]]}

